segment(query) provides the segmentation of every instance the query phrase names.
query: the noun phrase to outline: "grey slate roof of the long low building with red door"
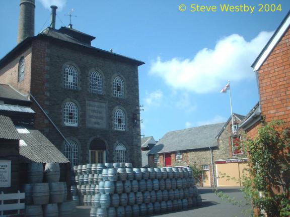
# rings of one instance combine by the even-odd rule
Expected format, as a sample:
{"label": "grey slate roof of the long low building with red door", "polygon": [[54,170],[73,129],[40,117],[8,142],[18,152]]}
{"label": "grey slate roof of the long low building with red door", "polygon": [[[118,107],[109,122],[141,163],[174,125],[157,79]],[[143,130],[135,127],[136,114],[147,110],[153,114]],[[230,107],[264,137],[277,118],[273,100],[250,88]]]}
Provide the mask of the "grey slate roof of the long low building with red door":
{"label": "grey slate roof of the long low building with red door", "polygon": [[224,125],[220,123],[168,132],[148,154],[216,147],[218,140],[215,136]]}

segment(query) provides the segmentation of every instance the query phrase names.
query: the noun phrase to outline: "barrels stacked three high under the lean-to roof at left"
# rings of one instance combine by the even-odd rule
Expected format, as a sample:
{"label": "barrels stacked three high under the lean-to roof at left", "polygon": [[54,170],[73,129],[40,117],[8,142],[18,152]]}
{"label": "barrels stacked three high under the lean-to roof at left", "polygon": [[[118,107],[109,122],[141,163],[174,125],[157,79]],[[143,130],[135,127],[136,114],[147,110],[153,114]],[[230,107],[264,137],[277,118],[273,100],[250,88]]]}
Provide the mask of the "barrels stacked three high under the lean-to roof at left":
{"label": "barrels stacked three high under the lean-to roof at left", "polygon": [[27,184],[25,192],[25,216],[71,216],[73,203],[66,201],[66,182],[59,182],[58,163],[27,164]]}

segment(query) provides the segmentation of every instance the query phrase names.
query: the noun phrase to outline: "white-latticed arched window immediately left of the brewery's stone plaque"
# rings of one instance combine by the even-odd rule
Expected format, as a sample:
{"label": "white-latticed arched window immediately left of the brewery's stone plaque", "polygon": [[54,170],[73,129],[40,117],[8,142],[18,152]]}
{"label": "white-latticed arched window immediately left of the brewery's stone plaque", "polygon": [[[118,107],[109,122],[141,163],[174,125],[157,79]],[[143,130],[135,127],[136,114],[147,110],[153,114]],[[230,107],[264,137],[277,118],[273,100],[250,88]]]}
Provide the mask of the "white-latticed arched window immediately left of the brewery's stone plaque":
{"label": "white-latticed arched window immediately left of the brewery's stone plaque", "polygon": [[78,106],[74,102],[66,102],[63,107],[63,124],[78,127]]}

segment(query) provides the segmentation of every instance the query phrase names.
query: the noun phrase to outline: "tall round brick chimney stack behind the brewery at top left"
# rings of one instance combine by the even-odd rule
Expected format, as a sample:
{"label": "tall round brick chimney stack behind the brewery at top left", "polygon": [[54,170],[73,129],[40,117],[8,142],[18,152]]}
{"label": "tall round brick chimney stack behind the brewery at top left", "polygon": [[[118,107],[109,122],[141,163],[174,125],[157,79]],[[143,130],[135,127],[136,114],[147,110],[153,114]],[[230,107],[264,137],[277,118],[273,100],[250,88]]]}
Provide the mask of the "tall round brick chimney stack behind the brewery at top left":
{"label": "tall round brick chimney stack behind the brewery at top left", "polygon": [[17,43],[34,36],[35,0],[20,0]]}

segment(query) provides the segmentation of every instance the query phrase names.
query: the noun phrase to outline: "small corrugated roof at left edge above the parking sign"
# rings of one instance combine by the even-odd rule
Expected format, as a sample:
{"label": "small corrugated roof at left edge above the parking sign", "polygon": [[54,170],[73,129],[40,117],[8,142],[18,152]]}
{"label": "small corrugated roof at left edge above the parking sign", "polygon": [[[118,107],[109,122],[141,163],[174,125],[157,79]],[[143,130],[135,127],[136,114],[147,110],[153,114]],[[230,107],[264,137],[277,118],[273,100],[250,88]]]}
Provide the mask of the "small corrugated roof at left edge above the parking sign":
{"label": "small corrugated roof at left edge above the parking sign", "polygon": [[20,136],[9,117],[0,115],[0,139],[19,140]]}

